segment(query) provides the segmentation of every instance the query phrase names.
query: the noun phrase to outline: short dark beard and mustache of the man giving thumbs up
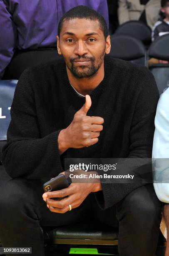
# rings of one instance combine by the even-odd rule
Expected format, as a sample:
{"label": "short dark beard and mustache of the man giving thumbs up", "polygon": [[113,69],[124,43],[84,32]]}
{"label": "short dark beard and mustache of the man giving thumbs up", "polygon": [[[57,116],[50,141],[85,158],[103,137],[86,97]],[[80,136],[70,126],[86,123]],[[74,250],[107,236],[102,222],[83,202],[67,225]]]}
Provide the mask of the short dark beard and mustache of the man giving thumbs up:
{"label": "short dark beard and mustache of the man giving thumbs up", "polygon": [[[92,56],[92,57],[87,57],[87,56],[78,56],[76,58],[70,58],[70,62],[68,63],[66,61],[66,65],[68,67],[68,69],[70,70],[70,72],[74,75],[74,77],[78,78],[78,79],[82,79],[82,78],[90,78],[93,77],[94,74],[97,73],[97,70],[100,68],[100,66],[102,65],[102,61],[104,58],[104,54],[105,54],[105,50],[102,52],[102,54],[99,56],[99,58],[96,59]],[[75,66],[74,61],[78,60],[78,59],[85,59],[89,62],[89,65],[82,65],[82,66]]]}

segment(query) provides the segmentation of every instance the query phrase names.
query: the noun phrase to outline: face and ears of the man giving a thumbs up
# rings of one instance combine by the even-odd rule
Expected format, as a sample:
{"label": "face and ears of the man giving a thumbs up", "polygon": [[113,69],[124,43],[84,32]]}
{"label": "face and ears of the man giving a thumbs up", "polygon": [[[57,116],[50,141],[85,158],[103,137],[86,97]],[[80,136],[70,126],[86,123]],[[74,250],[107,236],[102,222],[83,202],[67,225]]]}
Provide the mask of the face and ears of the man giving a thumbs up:
{"label": "face and ears of the man giving a thumbs up", "polygon": [[96,74],[105,53],[109,53],[109,41],[109,36],[105,41],[98,21],[75,18],[64,21],[57,48],[67,68],[80,79]]}

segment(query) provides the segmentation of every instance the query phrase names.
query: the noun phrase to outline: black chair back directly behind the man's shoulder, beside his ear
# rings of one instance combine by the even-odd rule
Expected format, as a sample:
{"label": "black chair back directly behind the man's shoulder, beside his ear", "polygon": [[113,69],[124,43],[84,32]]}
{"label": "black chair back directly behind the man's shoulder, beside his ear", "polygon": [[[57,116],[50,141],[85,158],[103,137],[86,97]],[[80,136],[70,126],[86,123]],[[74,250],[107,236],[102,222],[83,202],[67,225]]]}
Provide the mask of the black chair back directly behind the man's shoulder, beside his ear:
{"label": "black chair back directly behind the man's shoulder, beside his ear", "polygon": [[147,50],[144,44],[139,39],[127,34],[111,36],[110,55],[114,58],[147,66]]}

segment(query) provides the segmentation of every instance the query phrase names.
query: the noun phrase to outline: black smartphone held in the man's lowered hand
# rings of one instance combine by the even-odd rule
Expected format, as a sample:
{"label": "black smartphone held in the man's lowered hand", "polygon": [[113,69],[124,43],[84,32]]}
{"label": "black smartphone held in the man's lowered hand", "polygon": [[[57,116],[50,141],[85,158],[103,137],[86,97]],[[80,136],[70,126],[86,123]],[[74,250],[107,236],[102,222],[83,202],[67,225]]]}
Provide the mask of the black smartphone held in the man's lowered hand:
{"label": "black smartphone held in the man's lowered hand", "polygon": [[[45,192],[56,191],[69,187],[72,183],[72,180],[68,177],[66,178],[64,174],[59,174],[57,177],[50,179],[49,181],[43,184],[43,189]],[[60,197],[53,197],[51,199],[61,200]]]}

